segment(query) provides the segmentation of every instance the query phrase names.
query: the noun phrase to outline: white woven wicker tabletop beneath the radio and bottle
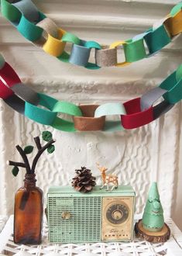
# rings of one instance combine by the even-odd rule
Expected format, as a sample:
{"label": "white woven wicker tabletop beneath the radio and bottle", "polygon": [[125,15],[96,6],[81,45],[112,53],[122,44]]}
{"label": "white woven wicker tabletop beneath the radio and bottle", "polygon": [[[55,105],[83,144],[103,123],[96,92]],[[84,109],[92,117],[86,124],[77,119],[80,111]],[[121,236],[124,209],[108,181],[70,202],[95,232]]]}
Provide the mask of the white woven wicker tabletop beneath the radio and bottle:
{"label": "white woven wicker tabletop beneath the radio and bottle", "polygon": [[[1,223],[0,216],[0,223]],[[136,220],[137,220],[136,216]],[[5,217],[3,217],[5,222]],[[69,256],[181,256],[182,255],[182,233],[177,228],[173,220],[168,220],[167,224],[171,230],[170,239],[163,244],[151,244],[144,240],[134,238],[129,243],[95,243],[95,244],[49,244],[47,241],[46,223],[43,224],[43,243],[38,246],[17,245],[12,241],[13,216],[9,217],[5,227],[0,233],[0,254],[13,255],[19,253],[23,256],[23,251],[31,255],[45,255],[53,253],[57,247],[57,253]],[[22,252],[22,254],[21,254]],[[163,252],[163,254],[162,254]]]}

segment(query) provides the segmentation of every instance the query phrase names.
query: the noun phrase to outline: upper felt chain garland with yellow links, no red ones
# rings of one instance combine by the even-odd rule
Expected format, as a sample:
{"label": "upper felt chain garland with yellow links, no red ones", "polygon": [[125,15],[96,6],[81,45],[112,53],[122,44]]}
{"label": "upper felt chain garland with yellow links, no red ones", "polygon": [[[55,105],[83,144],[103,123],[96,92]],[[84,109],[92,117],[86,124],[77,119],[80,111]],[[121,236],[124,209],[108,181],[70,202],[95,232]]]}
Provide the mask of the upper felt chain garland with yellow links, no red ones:
{"label": "upper felt chain garland with yellow links, no red ones", "polygon": [[[104,49],[99,43],[81,40],[74,34],[58,28],[43,12],[39,12],[30,0],[1,0],[1,7],[2,16],[9,19],[27,40],[43,47],[47,54],[57,57],[60,61],[90,69],[122,67],[150,57],[182,31],[182,3],[180,3],[153,28],[132,39],[114,42],[108,49]],[[73,44],[70,54],[64,50],[67,43]],[[124,50],[125,61],[122,63],[117,61],[118,47],[123,47]],[[94,64],[88,62],[92,48],[95,49]]]}

